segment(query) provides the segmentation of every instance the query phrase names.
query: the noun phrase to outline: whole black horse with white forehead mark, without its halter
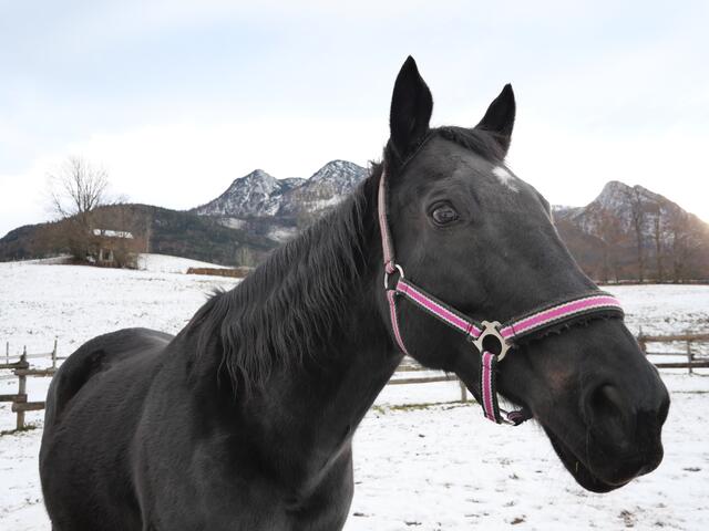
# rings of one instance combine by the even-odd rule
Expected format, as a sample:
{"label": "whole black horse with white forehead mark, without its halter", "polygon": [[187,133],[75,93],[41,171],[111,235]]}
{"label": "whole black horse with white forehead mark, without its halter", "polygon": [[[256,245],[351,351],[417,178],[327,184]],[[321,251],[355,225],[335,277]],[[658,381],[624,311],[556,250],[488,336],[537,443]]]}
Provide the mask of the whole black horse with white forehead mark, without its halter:
{"label": "whole black horse with white forehead mark, without its halter", "polygon": [[[595,289],[546,200],[503,164],[512,88],[472,128],[430,128],[431,111],[409,58],[383,163],[339,208],[176,336],[122,330],[66,360],[40,452],[54,530],[342,528],[352,435],[402,358],[382,287],[383,168],[407,278],[469,315],[504,320]],[[471,344],[405,301],[399,314],[411,355],[476,393]],[[619,319],[526,342],[501,362],[499,392],[533,414],[589,490],[661,460],[668,394]]]}

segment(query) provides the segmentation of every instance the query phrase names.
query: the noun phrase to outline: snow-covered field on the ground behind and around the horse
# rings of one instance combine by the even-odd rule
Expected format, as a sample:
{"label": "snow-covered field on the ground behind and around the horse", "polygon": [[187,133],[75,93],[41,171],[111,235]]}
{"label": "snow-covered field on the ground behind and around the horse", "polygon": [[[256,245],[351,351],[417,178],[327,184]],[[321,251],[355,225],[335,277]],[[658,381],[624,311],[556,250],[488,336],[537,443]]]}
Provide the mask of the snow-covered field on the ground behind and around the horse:
{"label": "snow-covered field on the ground behind and around the horse", "polygon": [[[125,326],[177,332],[206,294],[237,280],[184,275],[158,257],[152,269],[0,263],[0,358],[49,352],[59,337],[68,355],[85,340]],[[634,332],[709,332],[709,287],[612,288]],[[47,365],[49,360],[34,360]],[[516,529],[709,529],[709,377],[665,372],[672,407],[658,470],[610,494],[575,485],[541,428],[494,426],[458,399],[455,383],[389,386],[356,435],[356,493],[348,531]],[[29,381],[30,400],[49,382]],[[0,394],[17,389],[0,379]],[[37,455],[38,429],[0,436],[0,529],[49,530]],[[13,427],[0,405],[0,429]]]}

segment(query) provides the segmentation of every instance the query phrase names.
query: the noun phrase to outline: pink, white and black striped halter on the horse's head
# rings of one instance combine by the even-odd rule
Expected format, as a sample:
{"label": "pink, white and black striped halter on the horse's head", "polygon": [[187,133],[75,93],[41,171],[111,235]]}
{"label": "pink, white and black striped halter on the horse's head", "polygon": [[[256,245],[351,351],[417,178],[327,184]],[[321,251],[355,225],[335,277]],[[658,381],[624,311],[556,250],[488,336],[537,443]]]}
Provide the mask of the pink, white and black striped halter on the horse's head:
{"label": "pink, white and black striped halter on the horse's head", "polygon": [[[589,317],[623,317],[624,313],[620,303],[615,296],[596,290],[536,308],[503,324],[497,321],[477,322],[469,317],[404,278],[403,268],[397,263],[394,258],[393,241],[389,230],[386,177],[387,171],[384,169],[379,181],[379,228],[381,230],[381,244],[384,257],[384,290],[389,301],[391,327],[399,348],[405,355],[410,355],[401,337],[397,313],[397,300],[403,296],[415,306],[464,334],[480,353],[480,395],[477,398],[483,406],[483,413],[486,418],[496,424],[504,423],[514,426],[532,418],[532,413],[526,409],[505,412],[500,408],[495,388],[497,364],[521,340],[543,335],[551,327]],[[394,274],[398,274],[398,279],[393,288],[390,288],[390,278]],[[495,353],[490,352],[490,348],[484,346],[490,345],[490,339],[497,343],[497,348],[492,348]]]}

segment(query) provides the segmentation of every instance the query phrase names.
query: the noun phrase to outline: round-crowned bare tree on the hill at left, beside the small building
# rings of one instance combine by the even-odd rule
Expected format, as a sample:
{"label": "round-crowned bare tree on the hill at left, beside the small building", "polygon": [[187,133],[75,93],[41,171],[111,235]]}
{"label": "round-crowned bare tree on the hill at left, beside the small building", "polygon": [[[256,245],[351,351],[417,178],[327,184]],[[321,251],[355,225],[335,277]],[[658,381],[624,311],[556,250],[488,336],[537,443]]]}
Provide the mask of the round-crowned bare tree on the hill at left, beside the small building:
{"label": "round-crowned bare tree on the hill at left, beside the small building", "polygon": [[48,181],[50,210],[64,220],[63,244],[83,260],[93,237],[93,212],[109,202],[109,175],[80,157],[70,157]]}

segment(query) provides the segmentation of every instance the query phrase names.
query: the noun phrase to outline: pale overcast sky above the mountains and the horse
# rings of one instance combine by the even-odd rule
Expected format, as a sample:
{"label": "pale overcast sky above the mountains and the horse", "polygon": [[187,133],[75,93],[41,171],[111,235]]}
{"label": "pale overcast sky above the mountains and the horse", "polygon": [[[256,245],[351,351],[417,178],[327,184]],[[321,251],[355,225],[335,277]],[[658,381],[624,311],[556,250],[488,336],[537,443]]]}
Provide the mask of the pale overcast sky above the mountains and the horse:
{"label": "pale overcast sky above the mountains and the horse", "polygon": [[0,0],[0,236],[48,219],[69,156],[177,209],[255,168],[364,166],[409,54],[433,125],[474,125],[513,84],[508,163],[553,204],[619,179],[709,220],[709,2],[352,6]]}

